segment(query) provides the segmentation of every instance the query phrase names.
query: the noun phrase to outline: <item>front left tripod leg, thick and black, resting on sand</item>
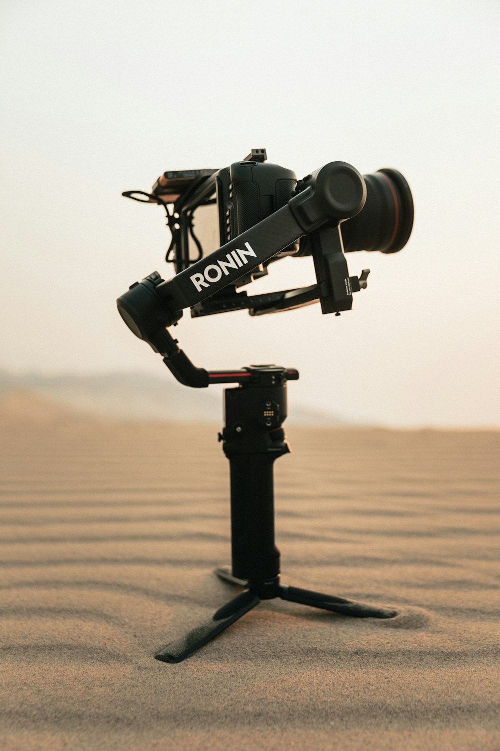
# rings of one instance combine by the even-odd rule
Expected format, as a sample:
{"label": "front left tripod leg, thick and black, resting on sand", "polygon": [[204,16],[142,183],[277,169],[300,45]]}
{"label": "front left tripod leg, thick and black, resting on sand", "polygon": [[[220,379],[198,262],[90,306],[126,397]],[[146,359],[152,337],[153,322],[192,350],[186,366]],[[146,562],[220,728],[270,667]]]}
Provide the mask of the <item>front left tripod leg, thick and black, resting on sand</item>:
{"label": "front left tripod leg, thick and black, resting on sand", "polygon": [[244,592],[226,602],[226,605],[219,608],[217,613],[205,623],[201,623],[196,626],[196,629],[168,644],[162,652],[154,655],[155,658],[163,662],[182,662],[183,659],[199,650],[199,647],[202,647],[203,644],[207,644],[214,636],[235,623],[235,620],[255,608],[259,602],[260,599],[256,595],[249,590],[244,590]]}

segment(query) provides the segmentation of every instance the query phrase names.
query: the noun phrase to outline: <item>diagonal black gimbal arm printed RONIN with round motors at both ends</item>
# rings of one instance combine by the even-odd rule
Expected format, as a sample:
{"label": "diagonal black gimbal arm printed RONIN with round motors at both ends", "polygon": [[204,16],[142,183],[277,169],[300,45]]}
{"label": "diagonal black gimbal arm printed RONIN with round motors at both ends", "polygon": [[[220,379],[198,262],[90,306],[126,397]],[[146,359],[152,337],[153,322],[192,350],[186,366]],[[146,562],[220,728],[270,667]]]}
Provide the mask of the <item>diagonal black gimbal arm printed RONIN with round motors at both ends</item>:
{"label": "diagonal black gimbal arm printed RONIN with round motors at both ends", "polygon": [[181,318],[182,310],[234,285],[241,276],[305,234],[351,219],[364,207],[367,197],[363,177],[343,161],[326,164],[299,185],[286,206],[207,258],[167,282],[154,272],[118,297],[118,312],[127,326],[154,351],[163,354],[166,365],[181,383],[208,386],[207,371],[193,366],[167,330]]}

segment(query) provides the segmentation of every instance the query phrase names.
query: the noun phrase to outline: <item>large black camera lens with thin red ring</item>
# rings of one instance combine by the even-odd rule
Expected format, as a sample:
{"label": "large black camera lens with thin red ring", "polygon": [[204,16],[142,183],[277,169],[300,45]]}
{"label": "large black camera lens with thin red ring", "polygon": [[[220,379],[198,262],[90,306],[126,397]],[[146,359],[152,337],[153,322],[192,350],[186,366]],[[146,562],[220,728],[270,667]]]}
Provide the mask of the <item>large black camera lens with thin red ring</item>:
{"label": "large black camera lens with thin red ring", "polygon": [[364,175],[364,182],[364,207],[353,219],[342,223],[344,250],[397,253],[406,246],[413,227],[413,198],[408,182],[391,169]]}

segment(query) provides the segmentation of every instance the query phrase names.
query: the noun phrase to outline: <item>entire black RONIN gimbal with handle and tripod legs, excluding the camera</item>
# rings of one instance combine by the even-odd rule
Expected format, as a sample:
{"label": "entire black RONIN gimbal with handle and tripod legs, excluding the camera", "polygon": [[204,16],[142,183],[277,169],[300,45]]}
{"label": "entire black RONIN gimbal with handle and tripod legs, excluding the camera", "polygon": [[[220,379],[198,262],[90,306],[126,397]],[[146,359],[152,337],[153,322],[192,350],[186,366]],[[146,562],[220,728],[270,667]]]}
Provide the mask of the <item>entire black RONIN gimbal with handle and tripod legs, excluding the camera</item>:
{"label": "entire black RONIN gimbal with handle and tripod legs, excluding the camera", "polygon": [[[393,243],[400,207],[394,189],[391,191],[396,217],[394,227],[389,228]],[[156,655],[157,659],[181,662],[261,599],[279,597],[357,617],[396,615],[384,608],[280,584],[280,553],[274,544],[273,464],[289,451],[283,430],[286,382],[298,379],[298,371],[274,365],[207,371],[193,365],[168,330],[177,324],[184,308],[191,308],[196,316],[197,306],[207,300],[210,303],[214,295],[213,312],[247,308],[250,315],[262,315],[316,300],[323,313],[339,315],[351,309],[352,294],[367,286],[369,271],[364,270],[359,277],[349,276],[341,225],[361,212],[366,198],[367,185],[358,170],[342,161],[326,164],[298,182],[286,205],[206,258],[200,258],[169,281],[163,281],[157,272],[151,273],[118,298],[118,310],[127,326],[163,356],[179,382],[194,388],[213,383],[238,384],[225,391],[225,427],[219,435],[230,463],[232,570],[217,569],[216,573],[244,587],[244,591],[202,626],[169,644]],[[411,219],[412,216],[411,213]],[[407,221],[403,245],[411,226],[410,223],[408,229]],[[310,246],[316,285],[254,296],[238,294],[237,300],[234,295],[226,300],[221,296],[225,288],[235,288],[243,275],[261,267],[299,238],[305,238]]]}

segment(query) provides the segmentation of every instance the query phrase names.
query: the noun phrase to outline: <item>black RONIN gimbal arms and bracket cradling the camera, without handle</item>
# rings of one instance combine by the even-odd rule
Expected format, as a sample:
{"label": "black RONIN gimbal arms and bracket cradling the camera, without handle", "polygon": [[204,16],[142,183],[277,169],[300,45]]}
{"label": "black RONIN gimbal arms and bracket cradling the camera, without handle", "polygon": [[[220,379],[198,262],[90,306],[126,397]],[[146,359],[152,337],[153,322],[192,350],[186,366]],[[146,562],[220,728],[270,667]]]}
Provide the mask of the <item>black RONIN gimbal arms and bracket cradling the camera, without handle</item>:
{"label": "black RONIN gimbal arms and bracket cradling the camera, without handle", "polygon": [[[364,207],[367,190],[358,170],[342,161],[326,164],[301,181],[301,188],[286,206],[235,237],[165,282],[154,271],[118,297],[118,311],[130,330],[163,355],[181,383],[208,386],[208,373],[195,368],[178,349],[167,328],[176,324],[184,308],[195,310],[247,273],[268,261],[290,243],[307,235],[313,246],[316,285],[247,297],[226,303],[228,309],[247,307],[250,315],[292,309],[319,300],[322,312],[352,308],[352,294],[367,286],[369,270],[349,276],[343,252],[340,222]],[[243,271],[242,271],[243,270]],[[218,303],[220,305],[220,303]]]}

